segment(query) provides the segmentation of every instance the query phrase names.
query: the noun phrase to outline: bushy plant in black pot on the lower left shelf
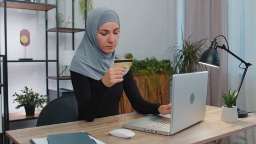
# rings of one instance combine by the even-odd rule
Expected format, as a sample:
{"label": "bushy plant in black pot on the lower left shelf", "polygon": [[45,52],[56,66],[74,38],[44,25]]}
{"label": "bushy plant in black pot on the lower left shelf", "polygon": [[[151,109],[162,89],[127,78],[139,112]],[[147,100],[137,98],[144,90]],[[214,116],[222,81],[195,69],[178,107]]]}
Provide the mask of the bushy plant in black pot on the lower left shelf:
{"label": "bushy plant in black pot on the lower left shelf", "polygon": [[39,93],[33,92],[32,88],[29,89],[27,86],[24,89],[20,90],[22,94],[13,94],[13,97],[16,97],[13,103],[18,102],[16,109],[19,109],[21,106],[25,107],[26,116],[34,116],[34,109],[37,107],[42,107],[43,104],[48,102],[48,96],[40,95]]}

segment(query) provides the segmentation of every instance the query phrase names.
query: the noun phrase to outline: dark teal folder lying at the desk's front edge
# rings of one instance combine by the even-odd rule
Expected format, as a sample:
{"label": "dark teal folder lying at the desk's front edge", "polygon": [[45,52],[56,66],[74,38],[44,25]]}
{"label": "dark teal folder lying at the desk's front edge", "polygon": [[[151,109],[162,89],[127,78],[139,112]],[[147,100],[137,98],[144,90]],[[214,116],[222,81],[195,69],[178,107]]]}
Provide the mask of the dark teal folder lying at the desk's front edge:
{"label": "dark teal folder lying at the desk's front edge", "polygon": [[69,134],[57,134],[47,136],[49,144],[70,144],[70,143],[92,143],[96,144],[88,134],[84,132],[80,133],[69,133]]}

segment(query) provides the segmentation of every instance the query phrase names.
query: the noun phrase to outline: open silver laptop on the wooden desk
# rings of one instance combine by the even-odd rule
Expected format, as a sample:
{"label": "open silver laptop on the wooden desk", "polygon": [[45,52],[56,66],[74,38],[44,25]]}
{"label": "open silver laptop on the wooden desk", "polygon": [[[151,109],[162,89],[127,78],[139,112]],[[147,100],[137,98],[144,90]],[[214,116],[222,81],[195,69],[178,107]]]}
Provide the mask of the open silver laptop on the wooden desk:
{"label": "open silver laptop on the wooden desk", "polygon": [[124,123],[123,128],[172,135],[205,119],[208,72],[172,77],[171,114],[150,115]]}

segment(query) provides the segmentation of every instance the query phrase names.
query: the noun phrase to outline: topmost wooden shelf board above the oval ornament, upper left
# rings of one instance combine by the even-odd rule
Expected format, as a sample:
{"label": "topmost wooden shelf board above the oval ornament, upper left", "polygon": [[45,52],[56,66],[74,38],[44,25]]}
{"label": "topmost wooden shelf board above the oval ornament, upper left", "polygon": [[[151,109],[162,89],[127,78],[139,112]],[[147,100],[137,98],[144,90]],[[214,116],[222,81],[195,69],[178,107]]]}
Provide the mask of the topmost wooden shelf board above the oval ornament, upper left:
{"label": "topmost wooden shelf board above the oval ornament, upper left", "polygon": [[[33,2],[14,1],[14,0],[8,0],[6,3],[7,3],[7,8],[16,8],[16,9],[48,11],[56,7],[55,4],[33,3]],[[0,2],[0,7],[4,7],[4,1]]]}

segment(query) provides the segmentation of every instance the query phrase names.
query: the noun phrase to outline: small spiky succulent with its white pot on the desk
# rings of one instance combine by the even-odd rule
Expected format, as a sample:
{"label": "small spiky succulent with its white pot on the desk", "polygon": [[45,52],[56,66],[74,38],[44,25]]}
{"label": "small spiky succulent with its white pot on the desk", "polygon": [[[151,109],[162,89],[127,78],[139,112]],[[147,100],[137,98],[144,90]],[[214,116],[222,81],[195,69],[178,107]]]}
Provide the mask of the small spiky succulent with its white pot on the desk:
{"label": "small spiky succulent with its white pot on the desk", "polygon": [[231,92],[231,89],[229,89],[228,94],[222,92],[222,99],[220,100],[225,104],[222,106],[222,121],[230,123],[238,121],[237,107],[234,106],[237,96],[237,92]]}

